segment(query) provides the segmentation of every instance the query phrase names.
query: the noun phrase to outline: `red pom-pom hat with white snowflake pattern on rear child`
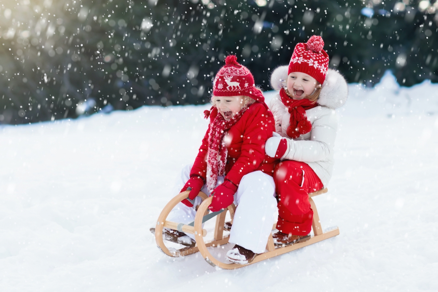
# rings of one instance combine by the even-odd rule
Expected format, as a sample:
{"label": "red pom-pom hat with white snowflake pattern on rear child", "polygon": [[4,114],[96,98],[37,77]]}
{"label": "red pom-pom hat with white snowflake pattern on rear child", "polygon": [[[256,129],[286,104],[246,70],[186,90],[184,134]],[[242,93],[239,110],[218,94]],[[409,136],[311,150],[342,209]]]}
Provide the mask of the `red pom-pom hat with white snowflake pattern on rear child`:
{"label": "red pom-pom hat with white snowflake pattern on rear child", "polygon": [[306,43],[299,42],[293,49],[287,74],[302,72],[323,84],[329,68],[329,55],[323,48],[324,41],[319,35],[312,35]]}

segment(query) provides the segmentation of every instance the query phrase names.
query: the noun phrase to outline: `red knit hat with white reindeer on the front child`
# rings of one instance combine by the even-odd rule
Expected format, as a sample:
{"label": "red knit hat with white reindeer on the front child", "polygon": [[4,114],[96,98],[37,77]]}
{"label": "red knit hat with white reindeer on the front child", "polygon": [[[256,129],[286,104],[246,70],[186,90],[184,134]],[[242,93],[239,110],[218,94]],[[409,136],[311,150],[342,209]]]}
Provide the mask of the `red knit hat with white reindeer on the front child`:
{"label": "red knit hat with white reindeer on the front child", "polygon": [[247,67],[237,63],[234,55],[225,58],[225,66],[220,68],[213,81],[214,96],[245,95],[258,102],[265,102],[265,97],[255,87],[254,77]]}

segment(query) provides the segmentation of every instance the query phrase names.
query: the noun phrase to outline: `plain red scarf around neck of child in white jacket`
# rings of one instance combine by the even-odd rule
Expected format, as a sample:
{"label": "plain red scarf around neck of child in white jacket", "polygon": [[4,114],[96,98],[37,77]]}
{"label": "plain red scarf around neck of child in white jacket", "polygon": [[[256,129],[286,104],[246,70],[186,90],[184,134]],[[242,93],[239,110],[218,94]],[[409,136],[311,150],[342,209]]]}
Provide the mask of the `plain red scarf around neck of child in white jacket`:
{"label": "plain red scarf around neck of child in white jacket", "polygon": [[306,110],[313,109],[318,106],[318,103],[312,103],[306,98],[292,99],[287,95],[284,88],[280,90],[280,97],[290,113],[290,125],[286,130],[286,134],[291,138],[298,138],[301,134],[309,133],[312,130],[312,124],[307,120]]}

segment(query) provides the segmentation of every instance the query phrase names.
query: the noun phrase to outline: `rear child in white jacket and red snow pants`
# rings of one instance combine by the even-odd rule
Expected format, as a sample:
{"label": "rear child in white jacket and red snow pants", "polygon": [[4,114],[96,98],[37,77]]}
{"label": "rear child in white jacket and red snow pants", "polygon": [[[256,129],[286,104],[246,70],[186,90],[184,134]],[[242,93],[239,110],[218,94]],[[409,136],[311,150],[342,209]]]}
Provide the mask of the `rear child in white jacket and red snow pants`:
{"label": "rear child in white jacket and red snow pants", "polygon": [[328,69],[323,47],[317,35],[298,43],[289,66],[278,67],[271,77],[279,94],[268,106],[279,135],[266,141],[265,151],[282,159],[274,170],[279,196],[279,232],[273,235],[277,245],[310,238],[313,211],[308,193],[326,187],[332,176],[335,109],[345,104],[348,88],[338,72]]}

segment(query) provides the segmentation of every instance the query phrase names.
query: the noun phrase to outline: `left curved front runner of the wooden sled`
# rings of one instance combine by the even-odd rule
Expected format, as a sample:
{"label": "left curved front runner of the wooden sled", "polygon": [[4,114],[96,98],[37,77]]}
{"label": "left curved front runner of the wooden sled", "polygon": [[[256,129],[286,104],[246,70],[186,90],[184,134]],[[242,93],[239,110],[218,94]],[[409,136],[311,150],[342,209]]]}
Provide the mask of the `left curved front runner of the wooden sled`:
{"label": "left curved front runner of the wooden sled", "polygon": [[[197,253],[198,247],[184,247],[180,250],[170,251],[167,246],[164,244],[163,238],[162,238],[162,230],[164,227],[169,227],[172,229],[176,229],[175,226],[172,226],[170,224],[175,224],[173,222],[167,222],[166,218],[169,215],[170,211],[182,200],[189,197],[189,190],[186,190],[182,193],[177,194],[175,197],[173,197],[172,200],[169,201],[169,203],[166,204],[166,206],[161,211],[160,215],[158,216],[157,224],[155,225],[155,242],[157,243],[157,246],[159,249],[161,249],[164,253],[166,253],[170,257],[183,257],[188,254]],[[207,195],[203,192],[199,192],[199,197],[201,197],[202,200],[207,199]],[[205,211],[204,211],[205,212]],[[201,227],[202,229],[202,227]],[[184,229],[182,230],[185,231]],[[201,230],[202,232],[202,230]],[[205,233],[205,232],[204,232]]]}

